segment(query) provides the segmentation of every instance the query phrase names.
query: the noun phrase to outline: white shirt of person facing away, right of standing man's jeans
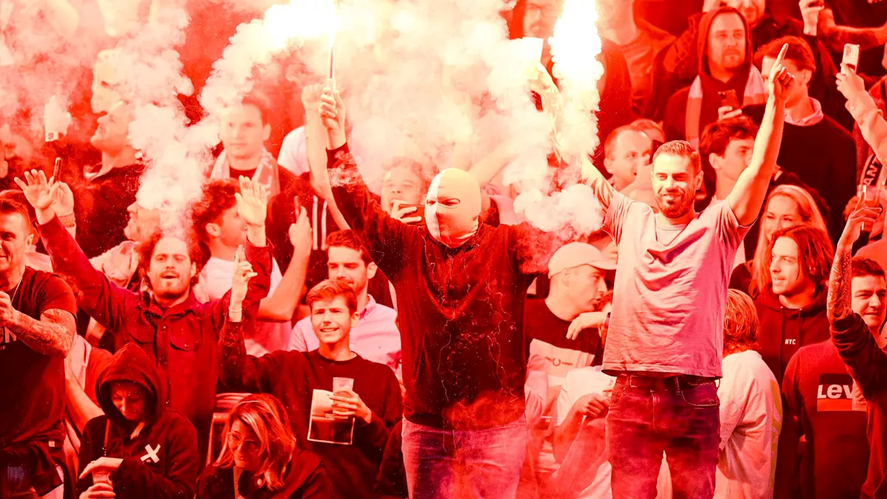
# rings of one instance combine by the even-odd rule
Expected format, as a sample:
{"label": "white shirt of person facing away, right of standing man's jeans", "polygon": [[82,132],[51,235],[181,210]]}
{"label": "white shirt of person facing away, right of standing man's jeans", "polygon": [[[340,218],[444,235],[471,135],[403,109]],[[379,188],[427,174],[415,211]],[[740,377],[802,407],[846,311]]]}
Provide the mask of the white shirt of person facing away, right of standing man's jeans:
{"label": "white shirt of person facing away, right of standing man's jeans", "polygon": [[715,497],[770,499],[782,427],[780,386],[754,350],[724,358],[720,399],[720,457]]}

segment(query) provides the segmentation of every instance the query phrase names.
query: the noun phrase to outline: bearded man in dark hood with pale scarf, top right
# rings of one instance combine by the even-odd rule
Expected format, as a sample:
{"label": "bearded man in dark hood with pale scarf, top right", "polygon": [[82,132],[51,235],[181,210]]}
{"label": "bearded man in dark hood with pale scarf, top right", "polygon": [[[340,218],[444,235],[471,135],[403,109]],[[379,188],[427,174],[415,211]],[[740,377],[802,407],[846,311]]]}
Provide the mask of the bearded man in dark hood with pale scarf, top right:
{"label": "bearded man in dark hood with pale scarf, top right", "polygon": [[718,107],[724,105],[720,94],[734,92],[741,106],[766,99],[764,79],[751,64],[751,38],[742,14],[729,7],[706,13],[698,38],[699,73],[671,96],[663,121],[665,139],[684,139],[696,148],[705,125],[718,120]]}

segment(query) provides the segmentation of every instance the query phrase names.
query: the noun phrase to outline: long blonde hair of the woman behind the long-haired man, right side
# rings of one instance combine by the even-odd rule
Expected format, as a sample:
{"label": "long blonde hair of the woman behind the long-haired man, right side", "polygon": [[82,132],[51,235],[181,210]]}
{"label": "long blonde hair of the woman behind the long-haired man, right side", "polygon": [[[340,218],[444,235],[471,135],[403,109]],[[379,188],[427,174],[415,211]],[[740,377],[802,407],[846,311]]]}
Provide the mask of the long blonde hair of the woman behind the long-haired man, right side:
{"label": "long blonde hair of the woman behind the long-haired man, right side", "polygon": [[[770,201],[776,196],[787,197],[797,204],[797,213],[801,216],[801,223],[799,225],[813,226],[822,229],[828,234],[828,226],[826,226],[825,218],[822,218],[822,213],[820,213],[819,207],[816,206],[816,202],[813,201],[813,196],[810,195],[804,187],[790,185],[776,186],[776,188],[773,189],[773,192],[767,196],[767,201],[764,203],[764,210],[761,210],[761,217],[765,216],[767,208],[770,206]],[[775,233],[776,231],[773,232]],[[770,257],[768,254],[769,248],[770,241],[767,241],[764,230],[764,221],[761,220],[760,232],[757,234],[755,256],[751,260],[751,283],[749,285],[749,294],[752,297],[757,297],[761,294],[761,291],[770,285],[770,268],[767,263],[769,262]]]}

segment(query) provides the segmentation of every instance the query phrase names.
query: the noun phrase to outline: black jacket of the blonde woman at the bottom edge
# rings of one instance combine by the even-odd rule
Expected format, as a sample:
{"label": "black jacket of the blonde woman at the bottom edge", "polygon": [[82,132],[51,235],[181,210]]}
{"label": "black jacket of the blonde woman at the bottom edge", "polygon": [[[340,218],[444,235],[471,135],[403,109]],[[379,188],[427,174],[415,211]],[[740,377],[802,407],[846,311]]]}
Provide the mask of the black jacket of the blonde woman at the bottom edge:
{"label": "black jacket of the blonde woman at the bottom edge", "polygon": [[[261,479],[253,478],[249,473],[240,476],[238,492],[246,499],[329,499],[333,495],[333,485],[320,457],[298,448],[290,457],[282,488],[270,490]],[[234,470],[215,464],[208,466],[200,473],[197,499],[235,499]]]}

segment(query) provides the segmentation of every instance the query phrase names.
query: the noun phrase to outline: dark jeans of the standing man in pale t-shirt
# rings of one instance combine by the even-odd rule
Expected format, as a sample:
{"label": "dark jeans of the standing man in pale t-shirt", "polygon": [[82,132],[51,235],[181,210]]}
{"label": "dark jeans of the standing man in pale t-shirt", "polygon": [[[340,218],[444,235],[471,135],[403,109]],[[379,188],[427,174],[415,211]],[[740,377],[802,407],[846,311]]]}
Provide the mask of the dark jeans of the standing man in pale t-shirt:
{"label": "dark jeans of the standing man in pale t-shirt", "polygon": [[614,499],[653,499],[663,452],[675,499],[710,499],[720,413],[714,381],[621,374],[607,416]]}

